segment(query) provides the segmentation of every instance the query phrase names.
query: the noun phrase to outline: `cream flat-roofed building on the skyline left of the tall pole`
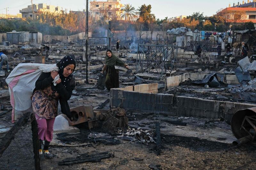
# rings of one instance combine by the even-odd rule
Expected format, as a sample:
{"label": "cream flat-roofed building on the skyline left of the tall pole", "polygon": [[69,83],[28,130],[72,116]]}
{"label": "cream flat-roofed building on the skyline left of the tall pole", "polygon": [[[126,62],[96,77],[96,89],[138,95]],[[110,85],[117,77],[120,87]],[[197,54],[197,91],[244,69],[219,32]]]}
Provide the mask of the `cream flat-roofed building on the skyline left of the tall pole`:
{"label": "cream flat-roofed building on the skyline left of the tall pole", "polygon": [[[54,5],[46,5],[46,4],[33,4],[33,11],[32,5],[28,5],[28,8],[23,8],[20,10],[22,18],[33,18],[38,15],[38,11],[47,11],[51,13],[59,13],[61,11],[60,7]],[[33,16],[34,15],[34,16]]]}

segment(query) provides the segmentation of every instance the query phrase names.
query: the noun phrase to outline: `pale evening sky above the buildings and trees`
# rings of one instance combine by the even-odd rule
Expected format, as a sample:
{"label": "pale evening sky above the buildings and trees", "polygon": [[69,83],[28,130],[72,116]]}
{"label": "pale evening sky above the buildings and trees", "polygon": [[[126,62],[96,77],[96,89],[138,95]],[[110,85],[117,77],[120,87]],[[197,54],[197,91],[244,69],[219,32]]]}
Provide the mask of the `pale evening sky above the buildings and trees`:
{"label": "pale evening sky above the buildings and trees", "polygon": [[[97,0],[106,1],[106,0]],[[237,3],[238,0],[121,0],[122,4],[131,4],[136,9],[142,4],[151,5],[152,13],[156,18],[164,19],[180,15],[191,15],[193,12],[204,12],[206,16],[212,16],[220,8],[228,7],[230,3]],[[242,0],[241,0],[242,2]],[[72,11],[85,9],[85,0],[33,0],[33,4],[46,3]],[[31,0],[0,0],[0,13],[17,14],[22,8],[31,5]]]}

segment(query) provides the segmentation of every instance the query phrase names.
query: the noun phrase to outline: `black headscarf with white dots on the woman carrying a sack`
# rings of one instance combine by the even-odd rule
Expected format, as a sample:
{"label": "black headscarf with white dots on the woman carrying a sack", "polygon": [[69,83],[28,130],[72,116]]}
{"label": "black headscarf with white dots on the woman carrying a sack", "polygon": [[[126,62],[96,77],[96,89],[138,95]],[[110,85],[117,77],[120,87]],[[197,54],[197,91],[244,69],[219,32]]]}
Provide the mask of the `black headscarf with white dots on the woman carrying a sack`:
{"label": "black headscarf with white dots on the woman carrying a sack", "polygon": [[59,63],[57,63],[57,66],[59,67],[59,75],[60,75],[61,83],[65,87],[69,86],[69,81],[73,77],[72,74],[70,74],[68,77],[64,77],[64,75],[63,75],[64,68],[67,67],[69,64],[74,64],[75,65],[74,70],[75,70],[75,68],[76,68],[76,61],[71,56],[65,56],[64,58],[62,58],[60,60]]}

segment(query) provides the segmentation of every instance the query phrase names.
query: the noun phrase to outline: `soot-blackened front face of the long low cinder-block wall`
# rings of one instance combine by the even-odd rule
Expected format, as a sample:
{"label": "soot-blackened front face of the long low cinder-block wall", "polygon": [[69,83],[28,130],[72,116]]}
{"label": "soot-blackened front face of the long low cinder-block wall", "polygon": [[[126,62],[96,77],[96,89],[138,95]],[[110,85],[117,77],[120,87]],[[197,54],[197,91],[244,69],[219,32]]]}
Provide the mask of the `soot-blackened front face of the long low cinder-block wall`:
{"label": "soot-blackened front face of the long low cinder-block wall", "polygon": [[232,115],[241,109],[256,107],[252,104],[204,100],[199,98],[154,94],[143,92],[110,90],[111,107],[120,107],[174,116],[193,116],[203,118],[224,118],[230,121]]}

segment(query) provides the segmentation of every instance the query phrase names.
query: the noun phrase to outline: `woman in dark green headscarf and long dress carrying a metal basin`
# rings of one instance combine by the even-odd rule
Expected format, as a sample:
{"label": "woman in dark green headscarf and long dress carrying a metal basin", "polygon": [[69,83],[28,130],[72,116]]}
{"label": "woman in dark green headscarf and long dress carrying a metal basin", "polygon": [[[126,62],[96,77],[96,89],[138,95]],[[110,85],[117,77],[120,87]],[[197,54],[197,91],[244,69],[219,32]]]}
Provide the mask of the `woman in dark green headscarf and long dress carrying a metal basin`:
{"label": "woman in dark green headscarf and long dress carrying a metal basin", "polygon": [[107,50],[106,64],[101,71],[101,73],[103,73],[106,70],[107,77],[105,84],[108,91],[110,91],[111,88],[119,88],[119,74],[115,69],[115,65],[125,66],[129,69],[129,66],[116,57],[116,55],[113,55],[112,51],[109,49]]}

